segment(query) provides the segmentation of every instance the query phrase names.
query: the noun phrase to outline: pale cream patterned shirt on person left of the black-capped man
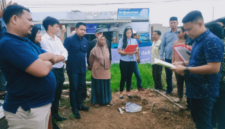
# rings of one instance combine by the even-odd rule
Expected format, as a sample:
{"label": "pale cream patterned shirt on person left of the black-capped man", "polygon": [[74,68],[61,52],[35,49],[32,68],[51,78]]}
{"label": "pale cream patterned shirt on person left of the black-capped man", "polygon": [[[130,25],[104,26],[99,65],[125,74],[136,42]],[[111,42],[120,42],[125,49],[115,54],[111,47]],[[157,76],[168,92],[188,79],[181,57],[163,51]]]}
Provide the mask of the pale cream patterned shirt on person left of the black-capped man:
{"label": "pale cream patterned shirt on person left of the black-capped man", "polygon": [[158,40],[157,42],[153,42],[152,48],[151,48],[151,64],[155,64],[155,58],[160,59],[160,46],[161,46],[161,40]]}

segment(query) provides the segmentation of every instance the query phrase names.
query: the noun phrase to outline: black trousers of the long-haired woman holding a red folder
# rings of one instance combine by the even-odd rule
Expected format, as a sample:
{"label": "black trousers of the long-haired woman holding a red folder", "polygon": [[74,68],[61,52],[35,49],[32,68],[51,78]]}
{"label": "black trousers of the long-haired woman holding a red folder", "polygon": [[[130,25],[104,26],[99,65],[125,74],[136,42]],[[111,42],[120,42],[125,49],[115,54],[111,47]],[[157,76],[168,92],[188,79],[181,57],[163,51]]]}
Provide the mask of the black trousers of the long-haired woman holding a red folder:
{"label": "black trousers of the long-haired woman holding a red folder", "polygon": [[127,91],[130,91],[131,87],[131,79],[135,69],[135,61],[122,61],[120,60],[120,73],[121,73],[121,80],[120,80],[120,92],[123,92],[124,85],[126,82]]}

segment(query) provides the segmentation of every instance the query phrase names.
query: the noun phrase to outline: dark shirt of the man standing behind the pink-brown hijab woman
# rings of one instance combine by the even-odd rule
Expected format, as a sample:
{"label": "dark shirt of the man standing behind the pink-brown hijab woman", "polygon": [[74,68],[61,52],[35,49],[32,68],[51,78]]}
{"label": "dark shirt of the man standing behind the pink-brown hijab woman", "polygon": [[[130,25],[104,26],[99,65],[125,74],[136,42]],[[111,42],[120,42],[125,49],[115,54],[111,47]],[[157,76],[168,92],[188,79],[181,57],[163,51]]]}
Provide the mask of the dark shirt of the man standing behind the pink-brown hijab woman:
{"label": "dark shirt of the man standing behind the pink-brown hijab woman", "polygon": [[[87,52],[87,62],[88,62],[88,65],[89,65],[89,56],[90,56],[91,50],[96,46],[96,44],[97,44],[97,39],[92,40],[88,44],[88,52]],[[107,47],[109,49],[109,59],[112,60],[111,45],[110,45],[110,43],[109,43],[108,40],[106,40],[106,44],[107,44]]]}

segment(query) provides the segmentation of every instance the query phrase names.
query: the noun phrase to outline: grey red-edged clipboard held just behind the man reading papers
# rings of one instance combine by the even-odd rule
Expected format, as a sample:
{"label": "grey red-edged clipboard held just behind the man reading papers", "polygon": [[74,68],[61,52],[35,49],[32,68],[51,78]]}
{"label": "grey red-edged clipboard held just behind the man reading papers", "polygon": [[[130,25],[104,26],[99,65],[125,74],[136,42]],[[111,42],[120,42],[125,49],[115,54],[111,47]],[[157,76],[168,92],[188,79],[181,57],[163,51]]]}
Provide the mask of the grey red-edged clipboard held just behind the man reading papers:
{"label": "grey red-edged clipboard held just behind the man reading papers", "polygon": [[188,48],[187,45],[175,45],[173,46],[173,50],[183,61],[189,61],[190,55],[187,51],[190,51],[190,48]]}

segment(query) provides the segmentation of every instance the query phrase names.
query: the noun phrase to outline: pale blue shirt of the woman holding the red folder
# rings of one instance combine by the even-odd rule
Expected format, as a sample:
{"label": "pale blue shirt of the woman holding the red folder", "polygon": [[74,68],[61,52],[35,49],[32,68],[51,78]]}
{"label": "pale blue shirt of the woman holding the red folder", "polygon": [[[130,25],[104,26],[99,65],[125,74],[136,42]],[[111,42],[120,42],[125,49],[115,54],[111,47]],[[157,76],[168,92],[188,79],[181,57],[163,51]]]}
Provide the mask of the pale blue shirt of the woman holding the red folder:
{"label": "pale blue shirt of the woman holding the red folder", "polygon": [[[128,45],[137,45],[137,44],[138,43],[137,43],[136,39],[133,39],[133,38],[127,39],[127,46]],[[119,45],[118,45],[118,49],[124,50],[123,49],[123,39],[120,40]],[[127,62],[136,61],[135,54],[133,54],[132,56],[130,56],[130,55],[120,55],[120,60],[127,61]]]}

